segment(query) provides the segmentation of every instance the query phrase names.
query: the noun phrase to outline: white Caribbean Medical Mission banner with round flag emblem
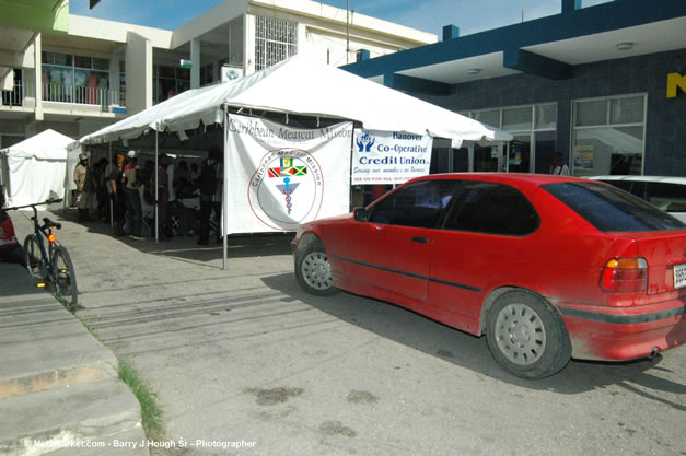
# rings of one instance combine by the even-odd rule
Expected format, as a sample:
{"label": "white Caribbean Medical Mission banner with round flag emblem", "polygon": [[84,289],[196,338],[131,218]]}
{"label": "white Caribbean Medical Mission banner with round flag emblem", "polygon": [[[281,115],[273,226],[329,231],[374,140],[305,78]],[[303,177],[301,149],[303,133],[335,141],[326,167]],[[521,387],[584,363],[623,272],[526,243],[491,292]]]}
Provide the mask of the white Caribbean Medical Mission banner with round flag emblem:
{"label": "white Caribbean Medical Mission banner with round flag emblem", "polygon": [[314,130],[229,115],[228,230],[293,231],[350,211],[352,122]]}

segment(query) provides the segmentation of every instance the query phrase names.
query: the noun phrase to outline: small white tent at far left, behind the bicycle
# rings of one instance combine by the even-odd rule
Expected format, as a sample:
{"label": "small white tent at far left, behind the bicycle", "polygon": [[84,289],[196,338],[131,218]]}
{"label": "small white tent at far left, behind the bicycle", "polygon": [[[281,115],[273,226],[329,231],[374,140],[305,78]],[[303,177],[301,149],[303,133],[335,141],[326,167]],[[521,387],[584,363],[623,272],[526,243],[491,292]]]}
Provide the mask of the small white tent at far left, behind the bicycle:
{"label": "small white tent at far left, behind the bicycle", "polygon": [[45,130],[0,150],[8,206],[63,198],[67,186],[67,148],[73,141],[57,131]]}

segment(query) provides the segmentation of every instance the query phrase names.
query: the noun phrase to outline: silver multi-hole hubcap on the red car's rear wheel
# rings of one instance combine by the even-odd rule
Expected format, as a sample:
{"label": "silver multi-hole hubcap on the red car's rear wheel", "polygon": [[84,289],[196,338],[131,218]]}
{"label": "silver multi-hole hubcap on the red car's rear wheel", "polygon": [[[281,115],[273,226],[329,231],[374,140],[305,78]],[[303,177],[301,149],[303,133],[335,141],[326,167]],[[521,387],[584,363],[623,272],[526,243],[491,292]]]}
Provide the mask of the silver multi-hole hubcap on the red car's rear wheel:
{"label": "silver multi-hole hubcap on the red car's rear wheel", "polygon": [[546,349],[543,320],[525,304],[508,305],[498,313],[496,341],[508,360],[520,365],[533,364]]}

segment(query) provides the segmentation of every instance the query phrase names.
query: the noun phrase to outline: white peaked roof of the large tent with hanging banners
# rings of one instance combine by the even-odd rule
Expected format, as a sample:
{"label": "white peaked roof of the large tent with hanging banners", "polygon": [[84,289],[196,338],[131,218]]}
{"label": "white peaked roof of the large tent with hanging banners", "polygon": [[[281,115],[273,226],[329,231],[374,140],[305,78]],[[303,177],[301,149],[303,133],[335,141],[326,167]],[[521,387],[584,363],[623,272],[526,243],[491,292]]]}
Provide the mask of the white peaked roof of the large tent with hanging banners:
{"label": "white peaked roof of the large tent with hanging banners", "polygon": [[354,120],[370,130],[404,131],[463,141],[509,141],[505,131],[385,87],[335,67],[294,56],[235,82],[183,92],[83,137],[96,144],[147,130],[194,130],[223,122],[224,106]]}

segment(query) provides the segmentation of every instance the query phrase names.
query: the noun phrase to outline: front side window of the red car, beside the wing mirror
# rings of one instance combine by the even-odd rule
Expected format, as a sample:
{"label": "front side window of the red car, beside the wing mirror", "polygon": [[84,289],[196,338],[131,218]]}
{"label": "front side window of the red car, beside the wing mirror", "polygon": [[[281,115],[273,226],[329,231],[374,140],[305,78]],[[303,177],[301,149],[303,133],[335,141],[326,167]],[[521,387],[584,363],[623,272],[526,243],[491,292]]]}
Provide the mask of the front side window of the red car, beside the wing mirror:
{"label": "front side window of the red car, beside the wing mirror", "polygon": [[437,227],[460,180],[420,180],[391,192],[374,204],[369,221],[387,225]]}

